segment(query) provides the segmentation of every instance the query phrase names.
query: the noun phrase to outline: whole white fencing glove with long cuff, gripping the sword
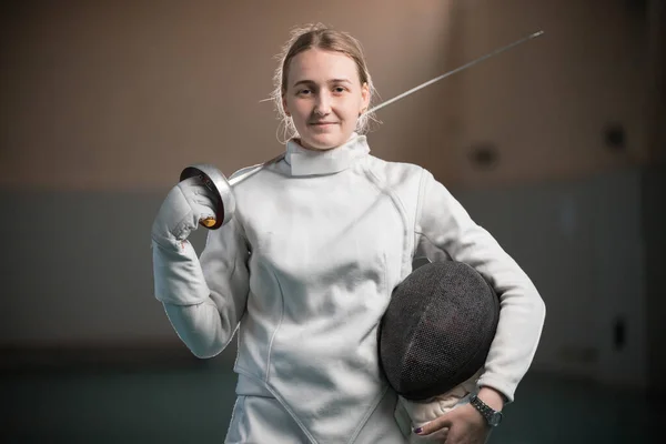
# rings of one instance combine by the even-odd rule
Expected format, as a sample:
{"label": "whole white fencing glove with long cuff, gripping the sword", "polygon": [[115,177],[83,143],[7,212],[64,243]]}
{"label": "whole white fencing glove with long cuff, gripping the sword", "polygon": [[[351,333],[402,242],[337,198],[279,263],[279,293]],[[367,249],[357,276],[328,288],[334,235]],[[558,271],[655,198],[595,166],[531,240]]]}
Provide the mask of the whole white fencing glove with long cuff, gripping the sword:
{"label": "whole white fencing glove with long cuff, gripping the sword", "polygon": [[214,218],[212,191],[200,178],[180,182],[167,194],[152,225],[155,297],[174,305],[195,305],[210,296],[196,252],[188,236],[199,221]]}

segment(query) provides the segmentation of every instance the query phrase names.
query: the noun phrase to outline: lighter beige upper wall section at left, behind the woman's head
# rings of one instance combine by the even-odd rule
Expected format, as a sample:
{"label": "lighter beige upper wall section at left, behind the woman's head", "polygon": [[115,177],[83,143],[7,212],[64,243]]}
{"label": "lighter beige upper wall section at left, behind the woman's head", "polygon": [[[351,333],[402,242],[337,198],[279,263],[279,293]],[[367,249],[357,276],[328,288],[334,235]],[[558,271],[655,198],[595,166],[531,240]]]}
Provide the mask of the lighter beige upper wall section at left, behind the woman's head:
{"label": "lighter beige upper wall section at left, behind the woman's head", "polygon": [[[322,21],[356,36],[384,95],[436,74],[447,52],[450,6],[434,0],[23,8],[3,19],[0,183],[9,185],[162,188],[191,162],[231,173],[274,157],[283,149],[278,121],[260,100],[297,24]],[[377,154],[418,150],[405,147],[420,119],[410,107],[385,114],[391,122],[373,138]]]}

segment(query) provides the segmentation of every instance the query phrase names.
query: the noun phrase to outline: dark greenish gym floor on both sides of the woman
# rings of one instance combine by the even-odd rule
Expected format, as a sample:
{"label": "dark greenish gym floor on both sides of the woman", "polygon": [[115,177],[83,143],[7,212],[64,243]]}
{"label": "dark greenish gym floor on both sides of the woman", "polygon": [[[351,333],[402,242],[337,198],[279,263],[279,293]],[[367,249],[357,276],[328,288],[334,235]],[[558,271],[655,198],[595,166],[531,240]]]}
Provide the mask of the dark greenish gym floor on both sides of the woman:
{"label": "dark greenish gym floor on both sides of the woman", "polygon": [[[3,443],[222,443],[230,366],[2,374]],[[528,373],[494,444],[652,443],[665,411],[643,393]]]}

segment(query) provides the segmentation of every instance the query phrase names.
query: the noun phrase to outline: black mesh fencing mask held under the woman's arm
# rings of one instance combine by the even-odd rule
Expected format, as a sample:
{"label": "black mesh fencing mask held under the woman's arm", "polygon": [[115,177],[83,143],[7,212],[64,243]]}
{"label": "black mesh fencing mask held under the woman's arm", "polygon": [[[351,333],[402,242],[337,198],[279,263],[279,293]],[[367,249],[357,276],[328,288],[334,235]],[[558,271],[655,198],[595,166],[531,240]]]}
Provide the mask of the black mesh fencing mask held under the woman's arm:
{"label": "black mesh fencing mask held under the woman's arm", "polygon": [[382,370],[406,400],[446,393],[484,365],[498,320],[497,294],[472,266],[422,265],[394,289],[382,317]]}

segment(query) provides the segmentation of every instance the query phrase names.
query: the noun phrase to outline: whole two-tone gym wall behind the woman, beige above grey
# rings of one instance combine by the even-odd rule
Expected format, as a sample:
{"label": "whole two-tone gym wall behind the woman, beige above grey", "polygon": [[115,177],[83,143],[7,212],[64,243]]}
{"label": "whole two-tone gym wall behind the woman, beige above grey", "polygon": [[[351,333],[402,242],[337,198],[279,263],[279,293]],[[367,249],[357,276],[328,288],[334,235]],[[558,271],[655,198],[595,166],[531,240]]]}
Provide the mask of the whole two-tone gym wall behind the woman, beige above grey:
{"label": "whole two-tone gym wall behind the woman, beige above grey", "polygon": [[283,150],[261,100],[292,27],[357,37],[379,101],[544,30],[380,111],[371,147],[433,171],[533,276],[535,367],[646,385],[642,204],[663,143],[638,3],[4,2],[0,346],[182,352],[152,296],[152,219],[186,164]]}

